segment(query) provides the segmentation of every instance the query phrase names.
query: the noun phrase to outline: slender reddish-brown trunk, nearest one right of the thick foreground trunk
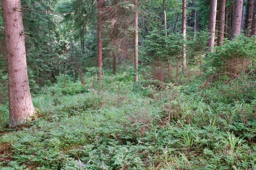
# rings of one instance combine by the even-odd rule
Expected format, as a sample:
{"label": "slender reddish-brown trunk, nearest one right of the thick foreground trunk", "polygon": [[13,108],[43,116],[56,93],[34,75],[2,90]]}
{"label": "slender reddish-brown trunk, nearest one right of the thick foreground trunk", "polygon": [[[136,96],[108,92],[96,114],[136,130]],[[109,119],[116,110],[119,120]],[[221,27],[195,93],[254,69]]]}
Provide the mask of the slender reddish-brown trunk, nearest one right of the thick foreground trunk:
{"label": "slender reddish-brown trunk, nearest one right of the thick foreground trunk", "polygon": [[97,20],[98,20],[98,26],[97,26],[97,44],[98,44],[98,79],[102,79],[102,40],[101,40],[101,31],[102,31],[102,18],[101,18],[101,7],[102,7],[103,0],[97,0]]}

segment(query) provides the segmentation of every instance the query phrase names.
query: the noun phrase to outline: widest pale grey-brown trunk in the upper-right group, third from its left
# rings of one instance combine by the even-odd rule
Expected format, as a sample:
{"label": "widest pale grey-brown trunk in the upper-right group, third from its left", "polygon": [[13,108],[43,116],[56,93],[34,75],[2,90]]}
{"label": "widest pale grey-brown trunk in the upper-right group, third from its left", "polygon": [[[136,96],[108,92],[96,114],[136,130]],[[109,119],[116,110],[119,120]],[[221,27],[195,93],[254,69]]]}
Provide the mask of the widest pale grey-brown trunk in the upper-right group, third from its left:
{"label": "widest pale grey-brown trunk in the upper-right group, third from its left", "polygon": [[232,38],[235,38],[236,34],[240,34],[242,12],[243,12],[243,0],[235,0],[234,17],[233,17],[233,24],[232,24]]}

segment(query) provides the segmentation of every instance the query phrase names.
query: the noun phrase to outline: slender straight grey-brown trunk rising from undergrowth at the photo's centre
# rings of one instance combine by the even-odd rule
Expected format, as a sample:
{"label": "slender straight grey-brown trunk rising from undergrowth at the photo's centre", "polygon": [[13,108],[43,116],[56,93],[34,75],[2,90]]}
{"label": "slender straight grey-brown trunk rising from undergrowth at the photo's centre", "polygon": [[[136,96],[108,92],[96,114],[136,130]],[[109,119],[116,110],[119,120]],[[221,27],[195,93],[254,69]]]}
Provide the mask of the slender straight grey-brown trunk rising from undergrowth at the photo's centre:
{"label": "slender straight grey-brown trunk rising from undergrowth at the photo's centre", "polygon": [[134,12],[134,69],[135,78],[134,81],[138,82],[138,3],[134,0],[135,12]]}

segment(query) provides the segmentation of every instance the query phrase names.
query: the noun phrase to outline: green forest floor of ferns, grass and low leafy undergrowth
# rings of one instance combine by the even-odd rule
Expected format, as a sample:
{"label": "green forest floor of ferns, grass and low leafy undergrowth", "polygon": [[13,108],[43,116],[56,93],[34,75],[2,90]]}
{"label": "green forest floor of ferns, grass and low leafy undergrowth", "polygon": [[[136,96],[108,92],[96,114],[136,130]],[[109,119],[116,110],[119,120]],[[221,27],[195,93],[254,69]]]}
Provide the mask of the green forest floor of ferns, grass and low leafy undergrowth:
{"label": "green forest floor of ferns, grass and low leafy undergrowth", "polygon": [[0,128],[0,169],[255,170],[253,77],[177,86],[129,72],[85,75],[87,85],[62,76],[33,94],[33,121]]}

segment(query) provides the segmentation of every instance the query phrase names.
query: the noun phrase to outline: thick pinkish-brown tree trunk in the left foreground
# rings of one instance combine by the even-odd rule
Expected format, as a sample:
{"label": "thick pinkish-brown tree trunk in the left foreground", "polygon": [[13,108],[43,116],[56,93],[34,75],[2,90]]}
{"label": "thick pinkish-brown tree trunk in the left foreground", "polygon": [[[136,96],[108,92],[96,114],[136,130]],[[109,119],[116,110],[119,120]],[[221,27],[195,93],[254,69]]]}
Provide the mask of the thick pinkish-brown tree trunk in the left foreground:
{"label": "thick pinkish-brown tree trunk in the left foreground", "polygon": [[2,0],[6,58],[9,75],[10,127],[16,127],[34,114],[26,66],[21,1]]}

